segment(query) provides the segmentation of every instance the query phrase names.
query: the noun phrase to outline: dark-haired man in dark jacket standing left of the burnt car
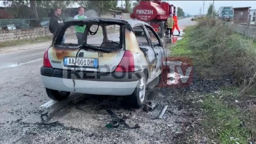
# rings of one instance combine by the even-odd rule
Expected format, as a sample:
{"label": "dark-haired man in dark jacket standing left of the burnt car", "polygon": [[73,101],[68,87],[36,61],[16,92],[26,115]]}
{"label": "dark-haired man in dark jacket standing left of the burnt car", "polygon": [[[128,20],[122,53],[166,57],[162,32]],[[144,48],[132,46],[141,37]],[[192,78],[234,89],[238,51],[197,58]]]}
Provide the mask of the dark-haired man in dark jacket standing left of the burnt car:
{"label": "dark-haired man in dark jacket standing left of the burnt car", "polygon": [[[56,8],[54,10],[54,15],[50,18],[49,22],[49,30],[52,34],[55,34],[57,31],[57,28],[61,25],[63,25],[63,20],[60,17],[61,15],[61,8]],[[65,35],[63,35],[62,44],[65,42]]]}

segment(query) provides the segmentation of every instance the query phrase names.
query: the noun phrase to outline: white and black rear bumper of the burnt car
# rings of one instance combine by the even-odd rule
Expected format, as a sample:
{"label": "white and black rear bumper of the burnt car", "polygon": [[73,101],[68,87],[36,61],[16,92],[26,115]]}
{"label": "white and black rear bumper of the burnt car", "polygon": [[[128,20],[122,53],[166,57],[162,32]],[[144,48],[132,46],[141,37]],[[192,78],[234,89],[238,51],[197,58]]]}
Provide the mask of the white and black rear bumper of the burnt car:
{"label": "white and black rear bumper of the burnt car", "polygon": [[[142,71],[126,74],[122,78],[120,77],[121,75],[118,75],[120,77],[119,79],[112,73],[106,75],[106,73],[80,72],[80,75],[84,75],[80,78],[74,76],[73,73],[73,71],[68,72],[63,69],[41,67],[41,77],[46,88],[99,95],[132,94],[138,85]],[[73,76],[75,77],[74,82]],[[79,75],[77,74],[77,76]]]}

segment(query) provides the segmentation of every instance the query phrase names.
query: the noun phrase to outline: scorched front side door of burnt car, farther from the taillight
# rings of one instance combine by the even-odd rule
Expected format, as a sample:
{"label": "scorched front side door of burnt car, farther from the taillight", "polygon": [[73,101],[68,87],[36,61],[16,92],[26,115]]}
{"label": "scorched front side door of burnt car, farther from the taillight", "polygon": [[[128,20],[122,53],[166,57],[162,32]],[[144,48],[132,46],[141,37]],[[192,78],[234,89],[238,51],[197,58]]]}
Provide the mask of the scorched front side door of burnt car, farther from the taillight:
{"label": "scorched front side door of burnt car, farther from the taillight", "polygon": [[156,68],[155,68],[155,76],[161,74],[161,69],[163,65],[163,60],[165,59],[165,51],[163,49],[163,45],[158,34],[152,29],[152,27],[148,25],[144,25],[145,30],[148,33],[149,41],[151,43],[152,49],[155,52],[156,59]]}

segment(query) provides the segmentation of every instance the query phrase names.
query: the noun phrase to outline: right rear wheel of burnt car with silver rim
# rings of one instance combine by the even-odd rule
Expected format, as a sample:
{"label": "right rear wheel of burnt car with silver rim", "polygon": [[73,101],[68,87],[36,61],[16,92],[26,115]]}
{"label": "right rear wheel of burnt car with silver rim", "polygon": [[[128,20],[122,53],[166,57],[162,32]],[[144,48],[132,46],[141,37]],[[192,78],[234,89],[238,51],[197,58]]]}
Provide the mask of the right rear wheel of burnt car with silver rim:
{"label": "right rear wheel of burnt car with silver rim", "polygon": [[144,73],[140,76],[139,83],[131,95],[132,103],[136,108],[141,108],[146,100],[147,77]]}

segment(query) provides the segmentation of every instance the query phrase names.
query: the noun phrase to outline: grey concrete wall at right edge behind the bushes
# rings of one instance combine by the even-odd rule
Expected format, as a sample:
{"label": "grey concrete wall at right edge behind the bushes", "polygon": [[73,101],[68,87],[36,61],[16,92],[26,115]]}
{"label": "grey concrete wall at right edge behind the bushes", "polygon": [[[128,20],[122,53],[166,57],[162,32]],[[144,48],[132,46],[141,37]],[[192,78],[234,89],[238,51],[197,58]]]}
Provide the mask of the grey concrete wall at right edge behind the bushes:
{"label": "grey concrete wall at right edge behind the bushes", "polygon": [[238,34],[254,38],[256,40],[256,27],[232,24],[233,30]]}

